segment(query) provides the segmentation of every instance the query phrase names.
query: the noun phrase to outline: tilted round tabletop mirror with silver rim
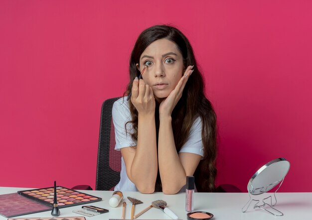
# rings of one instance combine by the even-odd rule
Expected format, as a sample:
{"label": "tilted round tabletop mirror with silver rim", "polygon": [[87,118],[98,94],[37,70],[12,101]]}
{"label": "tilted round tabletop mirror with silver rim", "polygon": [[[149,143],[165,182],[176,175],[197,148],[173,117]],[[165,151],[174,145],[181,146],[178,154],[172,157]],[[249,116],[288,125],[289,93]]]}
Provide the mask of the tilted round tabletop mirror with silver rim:
{"label": "tilted round tabletop mirror with silver rim", "polygon": [[286,176],[290,163],[285,158],[278,158],[262,166],[249,180],[247,190],[252,195],[268,192]]}

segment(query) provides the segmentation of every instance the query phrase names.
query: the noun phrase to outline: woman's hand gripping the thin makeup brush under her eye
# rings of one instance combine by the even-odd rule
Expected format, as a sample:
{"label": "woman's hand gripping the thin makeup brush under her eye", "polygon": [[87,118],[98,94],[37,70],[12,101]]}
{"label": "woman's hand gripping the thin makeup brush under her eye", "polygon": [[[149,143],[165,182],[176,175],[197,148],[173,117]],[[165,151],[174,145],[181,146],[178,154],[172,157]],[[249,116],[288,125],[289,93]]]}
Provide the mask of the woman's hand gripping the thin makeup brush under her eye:
{"label": "woman's hand gripping the thin makeup brush under her eye", "polygon": [[132,85],[131,102],[138,110],[139,114],[155,114],[155,98],[152,87],[144,80],[136,77]]}

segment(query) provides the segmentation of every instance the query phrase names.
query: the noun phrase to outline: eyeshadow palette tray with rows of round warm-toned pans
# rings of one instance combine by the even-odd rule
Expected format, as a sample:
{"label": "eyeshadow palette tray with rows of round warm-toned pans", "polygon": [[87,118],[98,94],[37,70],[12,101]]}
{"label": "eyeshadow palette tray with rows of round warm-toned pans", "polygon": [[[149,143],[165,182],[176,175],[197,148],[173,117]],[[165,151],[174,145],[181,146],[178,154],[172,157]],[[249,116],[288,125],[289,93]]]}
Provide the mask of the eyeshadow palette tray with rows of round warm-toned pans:
{"label": "eyeshadow palette tray with rows of round warm-toned pans", "polygon": [[[41,204],[45,204],[49,207],[53,206],[53,187],[35,190],[24,190],[18,191],[17,193],[31,200],[35,200]],[[71,190],[62,186],[56,187],[56,193],[57,205],[59,208],[94,203],[102,200],[99,197],[88,195],[86,193],[81,193],[76,190]]]}

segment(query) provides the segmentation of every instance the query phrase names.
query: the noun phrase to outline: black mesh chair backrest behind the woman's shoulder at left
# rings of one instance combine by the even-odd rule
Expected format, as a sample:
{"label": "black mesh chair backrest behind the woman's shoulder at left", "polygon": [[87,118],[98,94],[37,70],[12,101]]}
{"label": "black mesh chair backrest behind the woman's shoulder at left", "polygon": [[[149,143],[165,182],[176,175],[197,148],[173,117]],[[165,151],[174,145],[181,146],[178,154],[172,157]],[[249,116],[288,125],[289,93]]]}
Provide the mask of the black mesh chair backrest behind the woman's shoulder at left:
{"label": "black mesh chair backrest behind the woman's shoulder at left", "polygon": [[104,101],[101,110],[96,190],[114,190],[120,181],[121,153],[115,150],[115,130],[112,120],[113,104],[120,97]]}

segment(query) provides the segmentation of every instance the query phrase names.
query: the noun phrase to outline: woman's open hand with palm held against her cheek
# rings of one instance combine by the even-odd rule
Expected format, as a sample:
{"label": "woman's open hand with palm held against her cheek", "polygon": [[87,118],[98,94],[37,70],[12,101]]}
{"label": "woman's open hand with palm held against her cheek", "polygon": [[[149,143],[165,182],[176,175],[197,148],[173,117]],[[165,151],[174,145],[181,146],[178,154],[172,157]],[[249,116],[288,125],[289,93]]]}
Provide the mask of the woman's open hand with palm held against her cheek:
{"label": "woman's open hand with palm held against her cheek", "polygon": [[174,109],[177,102],[180,100],[182,96],[183,89],[185,87],[185,84],[189,78],[189,76],[192,74],[194,66],[188,66],[184,72],[184,75],[180,79],[180,81],[175,86],[174,90],[171,91],[169,96],[162,100],[162,102],[159,105],[159,115],[167,115],[171,116],[172,110]]}

